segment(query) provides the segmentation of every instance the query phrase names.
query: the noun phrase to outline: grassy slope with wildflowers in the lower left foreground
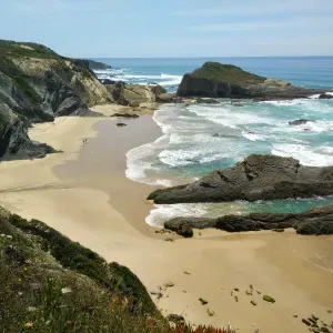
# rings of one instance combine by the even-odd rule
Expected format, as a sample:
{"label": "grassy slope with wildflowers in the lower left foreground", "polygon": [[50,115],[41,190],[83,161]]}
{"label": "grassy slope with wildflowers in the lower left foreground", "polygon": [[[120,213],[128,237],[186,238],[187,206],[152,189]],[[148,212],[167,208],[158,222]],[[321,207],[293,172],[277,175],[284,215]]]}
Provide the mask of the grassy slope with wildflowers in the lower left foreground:
{"label": "grassy slope with wildflowers in the lower left foreground", "polygon": [[171,326],[127,268],[0,208],[0,333],[234,333]]}

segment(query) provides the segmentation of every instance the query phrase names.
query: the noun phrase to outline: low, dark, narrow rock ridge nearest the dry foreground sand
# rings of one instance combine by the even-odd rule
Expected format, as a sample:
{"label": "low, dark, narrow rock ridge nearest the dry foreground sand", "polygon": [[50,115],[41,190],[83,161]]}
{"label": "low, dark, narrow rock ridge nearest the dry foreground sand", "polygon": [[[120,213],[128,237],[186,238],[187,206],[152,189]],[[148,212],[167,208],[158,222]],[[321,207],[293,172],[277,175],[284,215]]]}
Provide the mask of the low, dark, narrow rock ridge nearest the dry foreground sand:
{"label": "low, dark, narrow rock ridge nearest the dry foreground sand", "polygon": [[[251,213],[249,215],[224,215],[218,219],[176,218],[164,223],[164,228],[178,234],[181,225],[188,232],[194,229],[214,228],[228,232],[274,230],[293,228],[300,234],[333,234],[333,204],[314,208],[300,214]],[[193,231],[192,231],[193,232]]]}

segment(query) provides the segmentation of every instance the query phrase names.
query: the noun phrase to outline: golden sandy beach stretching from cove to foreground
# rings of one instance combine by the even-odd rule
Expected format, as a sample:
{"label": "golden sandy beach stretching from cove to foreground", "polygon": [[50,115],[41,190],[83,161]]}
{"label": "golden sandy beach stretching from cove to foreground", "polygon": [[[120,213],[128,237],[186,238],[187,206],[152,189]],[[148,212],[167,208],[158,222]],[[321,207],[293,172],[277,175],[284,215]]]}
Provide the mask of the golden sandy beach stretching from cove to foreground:
{"label": "golden sandy beach stretching from cove to foreground", "polygon": [[[152,297],[163,313],[182,314],[194,324],[230,322],[240,332],[301,333],[307,331],[302,317],[311,314],[332,323],[333,236],[204,230],[167,242],[170,235],[157,234],[144,222],[153,209],[145,198],[154,188],[124,173],[125,153],[158,139],[161,130],[151,115],[121,122],[128,127],[118,128],[112,118],[70,117],[34,125],[33,140],[63,153],[2,162],[0,205],[129,266],[149,291],[172,282],[160,300]],[[265,294],[276,302],[264,302]],[[201,305],[200,297],[209,303]]]}

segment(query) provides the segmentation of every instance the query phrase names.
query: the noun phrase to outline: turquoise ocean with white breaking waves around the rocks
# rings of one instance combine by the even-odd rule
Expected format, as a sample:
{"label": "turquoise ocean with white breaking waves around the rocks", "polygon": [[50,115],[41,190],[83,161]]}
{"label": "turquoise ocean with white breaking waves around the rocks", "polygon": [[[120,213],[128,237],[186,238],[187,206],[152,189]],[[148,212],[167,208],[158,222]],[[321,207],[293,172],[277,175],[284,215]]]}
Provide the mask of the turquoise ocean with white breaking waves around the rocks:
{"label": "turquoise ocean with white breaking waves around the rocks", "polygon": [[[112,65],[112,70],[97,71],[101,79],[159,83],[168,91],[175,91],[183,74],[205,61],[235,64],[304,88],[333,90],[333,57],[95,60]],[[134,181],[158,185],[186,183],[215,169],[232,167],[252,153],[292,157],[304,165],[333,165],[333,100],[319,100],[317,95],[291,101],[175,104],[162,107],[153,119],[163,135],[127,154],[127,176]],[[311,122],[289,124],[296,119]],[[178,215],[301,212],[327,202],[333,199],[157,205],[147,222],[161,226]]]}

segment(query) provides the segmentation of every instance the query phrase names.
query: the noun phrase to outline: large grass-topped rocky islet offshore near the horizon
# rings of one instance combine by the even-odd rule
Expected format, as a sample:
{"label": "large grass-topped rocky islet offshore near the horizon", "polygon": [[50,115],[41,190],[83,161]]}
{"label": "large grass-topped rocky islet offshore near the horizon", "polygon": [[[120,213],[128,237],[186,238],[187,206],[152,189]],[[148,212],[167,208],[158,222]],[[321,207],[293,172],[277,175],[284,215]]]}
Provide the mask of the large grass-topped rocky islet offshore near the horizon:
{"label": "large grass-topped rocky islet offshore near the horizon", "polygon": [[323,90],[302,89],[289,82],[268,79],[232,64],[206,62],[185,74],[178,97],[293,99],[324,93]]}

